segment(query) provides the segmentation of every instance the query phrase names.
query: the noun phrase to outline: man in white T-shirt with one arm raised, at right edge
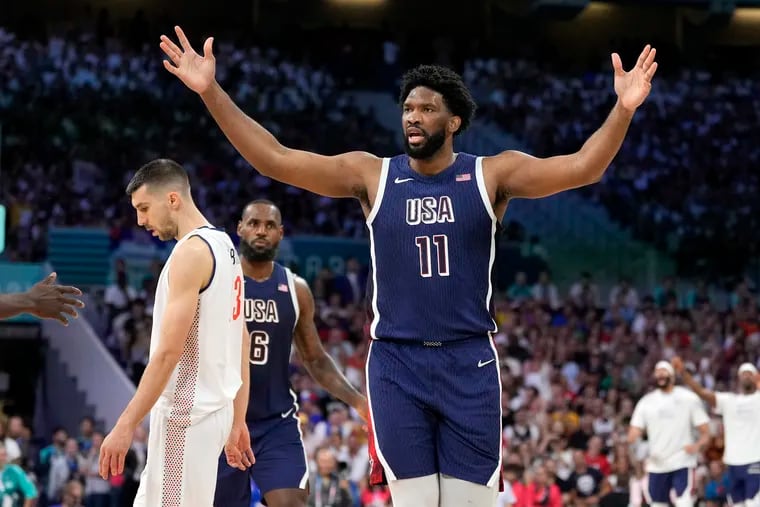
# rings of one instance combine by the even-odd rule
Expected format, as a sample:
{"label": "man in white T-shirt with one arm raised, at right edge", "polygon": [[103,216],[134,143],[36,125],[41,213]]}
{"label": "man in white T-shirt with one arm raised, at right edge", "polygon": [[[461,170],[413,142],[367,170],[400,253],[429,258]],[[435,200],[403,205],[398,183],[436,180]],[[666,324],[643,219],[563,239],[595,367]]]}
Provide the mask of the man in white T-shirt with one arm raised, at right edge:
{"label": "man in white T-shirt with one arm raised, at right edge", "polygon": [[726,448],[723,463],[731,482],[729,497],[733,505],[760,507],[760,377],[752,363],[739,366],[740,393],[705,389],[673,358],[673,368],[684,384],[723,416]]}

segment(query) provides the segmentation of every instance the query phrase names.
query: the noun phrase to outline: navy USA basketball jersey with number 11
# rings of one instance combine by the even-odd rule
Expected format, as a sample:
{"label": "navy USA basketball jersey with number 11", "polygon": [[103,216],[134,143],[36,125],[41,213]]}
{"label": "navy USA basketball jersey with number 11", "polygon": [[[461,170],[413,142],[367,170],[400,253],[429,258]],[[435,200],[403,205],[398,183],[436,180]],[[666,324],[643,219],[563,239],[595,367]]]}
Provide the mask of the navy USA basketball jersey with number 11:
{"label": "navy USA basketball jersey with number 11", "polygon": [[459,153],[434,176],[383,160],[367,217],[373,339],[443,342],[496,331],[491,314],[498,220],[482,159]]}

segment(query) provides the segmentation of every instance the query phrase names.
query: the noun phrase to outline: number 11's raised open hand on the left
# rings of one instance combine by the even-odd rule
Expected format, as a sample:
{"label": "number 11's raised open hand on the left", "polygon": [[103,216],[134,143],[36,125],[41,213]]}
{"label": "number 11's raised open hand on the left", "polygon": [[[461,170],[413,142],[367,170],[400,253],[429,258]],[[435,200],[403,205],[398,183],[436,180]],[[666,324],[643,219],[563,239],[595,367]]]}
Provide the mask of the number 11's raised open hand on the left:
{"label": "number 11's raised open hand on the left", "polygon": [[209,37],[203,43],[201,56],[195,52],[180,27],[175,26],[174,31],[182,48],[177,47],[166,35],[161,36],[161,49],[171,60],[164,60],[164,67],[185,83],[185,86],[201,94],[213,84],[216,75],[216,59],[211,50],[214,38]]}

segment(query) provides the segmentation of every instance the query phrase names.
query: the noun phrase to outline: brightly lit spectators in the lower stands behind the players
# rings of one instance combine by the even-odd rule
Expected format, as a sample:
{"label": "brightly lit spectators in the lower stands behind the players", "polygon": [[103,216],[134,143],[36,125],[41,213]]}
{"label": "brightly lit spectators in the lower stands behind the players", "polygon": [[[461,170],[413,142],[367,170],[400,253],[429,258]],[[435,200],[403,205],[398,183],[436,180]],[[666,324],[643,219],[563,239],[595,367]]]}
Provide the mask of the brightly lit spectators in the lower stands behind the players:
{"label": "brightly lit spectators in the lower stands behind the players", "polygon": [[[349,264],[361,279],[363,270]],[[316,323],[346,377],[364,389],[365,312],[348,278],[325,272],[314,281]],[[150,303],[132,291],[125,299],[127,309],[114,312],[112,328],[127,337],[126,366],[137,381],[135,366],[144,364],[146,351],[136,330],[149,327]],[[495,310],[508,485],[500,496],[502,506],[644,505],[639,459],[646,456],[646,446],[632,461],[624,441],[635,402],[652,387],[655,362],[678,355],[713,390],[736,388],[738,364],[760,366],[758,294],[747,282],[723,300],[703,285],[680,289],[670,278],[646,292],[622,280],[601,294],[584,274],[563,294],[547,275],[529,284],[518,274],[508,291],[498,295]],[[336,478],[345,496],[340,505],[390,505],[387,489],[367,487],[367,442],[360,419],[314,383],[297,355],[291,381],[312,478],[318,473]],[[696,493],[702,505],[720,506],[726,501],[726,479],[723,427],[715,414],[710,426]],[[56,430],[50,443],[32,439],[23,421],[12,418],[0,425],[0,441],[5,438],[8,459],[30,474],[48,502],[42,505],[66,494],[78,494],[87,505],[127,505],[119,502],[134,494],[144,464],[144,431],[136,435],[128,472],[108,482],[91,468],[102,433],[89,419],[78,431],[69,436]]]}

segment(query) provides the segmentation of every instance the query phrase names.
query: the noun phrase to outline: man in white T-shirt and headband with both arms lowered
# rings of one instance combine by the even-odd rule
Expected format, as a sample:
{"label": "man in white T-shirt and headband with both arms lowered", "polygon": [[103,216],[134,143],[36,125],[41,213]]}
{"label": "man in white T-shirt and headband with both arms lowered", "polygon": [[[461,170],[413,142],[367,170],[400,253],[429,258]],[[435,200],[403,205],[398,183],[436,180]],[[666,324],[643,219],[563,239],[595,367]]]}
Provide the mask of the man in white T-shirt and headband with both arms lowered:
{"label": "man in white T-shirt and headband with both arms lowered", "polygon": [[[674,385],[675,372],[670,363],[657,363],[654,377],[657,389],[644,395],[633,410],[628,443],[635,444],[646,432],[647,503],[652,507],[667,506],[672,492],[676,507],[692,507],[693,469],[697,454],[710,438],[709,419],[694,393]],[[694,428],[699,430],[697,442],[692,436]]]}

